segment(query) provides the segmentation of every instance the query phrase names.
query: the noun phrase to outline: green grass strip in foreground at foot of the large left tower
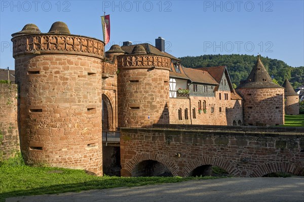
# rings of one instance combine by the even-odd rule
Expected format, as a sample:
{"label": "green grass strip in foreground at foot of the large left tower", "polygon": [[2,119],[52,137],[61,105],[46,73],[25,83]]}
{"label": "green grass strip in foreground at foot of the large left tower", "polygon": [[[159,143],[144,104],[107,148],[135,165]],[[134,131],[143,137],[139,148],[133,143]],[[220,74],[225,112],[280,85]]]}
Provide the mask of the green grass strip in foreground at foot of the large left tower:
{"label": "green grass strip in foreground at foot of the large left tower", "polygon": [[[17,159],[17,160],[16,160]],[[0,165],[0,201],[7,197],[80,192],[90,189],[174,183],[216,177],[97,177],[83,170],[25,166],[22,157]]]}

